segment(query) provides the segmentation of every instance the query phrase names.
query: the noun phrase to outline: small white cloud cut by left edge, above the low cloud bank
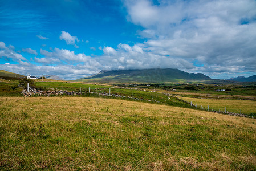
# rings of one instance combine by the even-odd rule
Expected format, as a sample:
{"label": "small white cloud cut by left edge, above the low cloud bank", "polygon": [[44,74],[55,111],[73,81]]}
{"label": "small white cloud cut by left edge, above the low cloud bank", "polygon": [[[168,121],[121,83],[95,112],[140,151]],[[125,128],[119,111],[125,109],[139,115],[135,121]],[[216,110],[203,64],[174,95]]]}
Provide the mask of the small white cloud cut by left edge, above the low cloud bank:
{"label": "small white cloud cut by left edge, above the low cloud bank", "polygon": [[24,58],[21,54],[18,54],[17,52],[14,52],[12,47],[6,47],[4,42],[0,42],[0,58],[2,56],[6,57],[6,58],[11,58],[14,60],[27,60],[26,58]]}

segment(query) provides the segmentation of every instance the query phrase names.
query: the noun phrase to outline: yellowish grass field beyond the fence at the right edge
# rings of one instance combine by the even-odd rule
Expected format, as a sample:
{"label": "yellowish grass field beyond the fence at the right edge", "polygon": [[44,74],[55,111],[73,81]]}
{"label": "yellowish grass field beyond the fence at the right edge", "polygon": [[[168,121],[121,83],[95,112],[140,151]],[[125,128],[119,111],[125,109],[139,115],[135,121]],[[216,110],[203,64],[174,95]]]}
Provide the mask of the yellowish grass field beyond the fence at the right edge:
{"label": "yellowish grass field beyond the fence at the right edge", "polygon": [[210,110],[225,111],[226,107],[229,112],[240,113],[241,109],[242,113],[247,115],[252,113],[256,114],[256,101],[254,100],[198,99],[190,97],[180,97],[180,99],[192,101],[193,104],[197,104],[199,107],[202,105],[203,107],[208,108],[209,105]]}

